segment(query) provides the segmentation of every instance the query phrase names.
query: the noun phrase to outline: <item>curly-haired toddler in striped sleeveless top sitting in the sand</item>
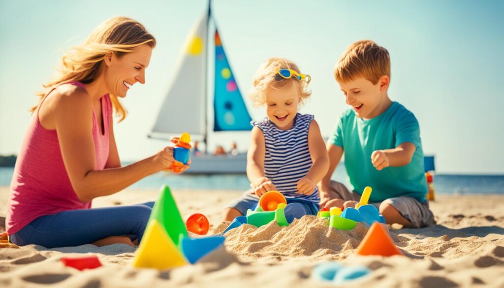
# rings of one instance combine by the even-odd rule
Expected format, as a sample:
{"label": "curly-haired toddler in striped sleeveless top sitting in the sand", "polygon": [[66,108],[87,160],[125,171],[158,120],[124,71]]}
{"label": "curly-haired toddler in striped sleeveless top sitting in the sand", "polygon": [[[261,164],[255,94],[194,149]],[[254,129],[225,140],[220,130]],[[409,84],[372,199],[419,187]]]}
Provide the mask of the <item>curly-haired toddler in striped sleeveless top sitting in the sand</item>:
{"label": "curly-haired toddler in striped sleeveless top sitting in the sand", "polygon": [[266,106],[267,117],[252,122],[247,153],[252,189],[229,204],[224,220],[244,215],[272,190],[286,197],[289,222],[317,215],[320,198],[316,185],[326,175],[329,158],[313,116],[298,113],[311,94],[309,82],[310,76],[301,74],[297,65],[286,59],[271,58],[257,71],[250,98],[255,106]]}

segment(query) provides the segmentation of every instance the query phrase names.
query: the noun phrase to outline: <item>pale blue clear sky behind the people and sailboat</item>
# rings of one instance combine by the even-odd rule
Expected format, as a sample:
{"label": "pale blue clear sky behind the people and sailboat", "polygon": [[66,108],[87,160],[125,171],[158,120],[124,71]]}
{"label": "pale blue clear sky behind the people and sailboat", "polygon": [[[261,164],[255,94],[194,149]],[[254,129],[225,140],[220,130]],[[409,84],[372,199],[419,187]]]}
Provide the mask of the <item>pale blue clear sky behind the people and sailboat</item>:
{"label": "pale blue clear sky behind the people and sailboat", "polygon": [[[157,39],[146,84],[122,103],[115,124],[123,161],[156,153],[166,141],[147,138],[175,73],[185,38],[207,1],[0,1],[0,155],[19,153],[35,91],[60,58],[98,24],[131,17]],[[332,133],[349,106],[333,77],[345,48],[371,39],[388,49],[389,97],[412,111],[423,151],[443,174],[504,174],[504,2],[214,0],[213,17],[239,89],[253,119],[265,116],[247,97],[259,65],[286,57],[311,75],[311,97],[300,112],[314,114]],[[209,148],[248,147],[248,132],[211,133]]]}

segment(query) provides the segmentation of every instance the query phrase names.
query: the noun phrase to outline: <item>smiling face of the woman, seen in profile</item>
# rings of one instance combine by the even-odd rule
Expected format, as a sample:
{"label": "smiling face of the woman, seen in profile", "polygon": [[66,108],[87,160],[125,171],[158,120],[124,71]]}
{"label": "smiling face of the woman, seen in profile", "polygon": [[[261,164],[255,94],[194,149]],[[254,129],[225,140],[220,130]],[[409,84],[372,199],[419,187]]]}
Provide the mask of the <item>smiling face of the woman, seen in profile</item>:
{"label": "smiling face of the woman, seen in profile", "polygon": [[115,54],[105,59],[105,83],[108,91],[115,96],[125,97],[137,82],[145,83],[145,69],[151,60],[152,47],[142,44],[132,48],[132,52],[117,57]]}

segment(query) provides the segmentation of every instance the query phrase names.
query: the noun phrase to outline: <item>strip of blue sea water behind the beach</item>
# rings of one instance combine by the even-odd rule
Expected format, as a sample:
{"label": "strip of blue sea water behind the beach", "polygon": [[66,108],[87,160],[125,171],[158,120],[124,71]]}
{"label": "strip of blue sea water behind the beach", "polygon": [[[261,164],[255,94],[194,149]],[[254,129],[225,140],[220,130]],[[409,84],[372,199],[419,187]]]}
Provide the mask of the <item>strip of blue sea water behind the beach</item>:
{"label": "strip of blue sea water behind the beach", "polygon": [[[14,168],[0,167],[0,186],[9,186]],[[348,185],[343,165],[333,179]],[[171,175],[159,172],[135,183],[131,188],[157,189],[167,184],[172,189],[247,190],[245,175]],[[434,189],[439,194],[504,194],[504,175],[435,175]]]}

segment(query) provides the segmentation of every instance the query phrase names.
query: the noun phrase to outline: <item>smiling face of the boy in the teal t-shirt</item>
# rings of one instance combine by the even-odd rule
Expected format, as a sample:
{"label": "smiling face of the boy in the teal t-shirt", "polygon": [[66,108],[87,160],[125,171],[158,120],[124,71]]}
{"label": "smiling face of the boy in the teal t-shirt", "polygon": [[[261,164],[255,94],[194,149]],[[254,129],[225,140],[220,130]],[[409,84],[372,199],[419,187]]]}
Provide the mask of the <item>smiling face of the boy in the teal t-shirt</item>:
{"label": "smiling face of the boy in the teal t-shirt", "polygon": [[382,76],[376,84],[364,77],[356,77],[339,84],[345,94],[346,103],[352,106],[357,117],[371,119],[384,112],[381,107],[389,86],[388,76]]}

